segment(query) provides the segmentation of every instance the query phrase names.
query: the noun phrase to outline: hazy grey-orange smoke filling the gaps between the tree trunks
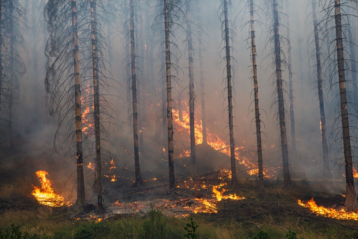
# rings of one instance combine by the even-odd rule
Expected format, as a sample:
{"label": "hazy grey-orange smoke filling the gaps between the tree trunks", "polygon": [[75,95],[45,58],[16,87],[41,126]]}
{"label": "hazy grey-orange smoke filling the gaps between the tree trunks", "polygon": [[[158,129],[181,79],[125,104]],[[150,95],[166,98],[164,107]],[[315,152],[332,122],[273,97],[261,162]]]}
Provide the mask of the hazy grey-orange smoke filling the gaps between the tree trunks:
{"label": "hazy grey-orange smoke filling the gaps between the tree trunks", "polygon": [[[24,1],[25,2],[25,1]],[[27,2],[26,2],[27,3]],[[136,33],[137,40],[137,67],[138,67],[138,83],[139,90],[139,107],[140,107],[140,160],[141,170],[144,179],[153,177],[168,176],[168,162],[167,156],[163,152],[163,147],[166,149],[167,145],[164,141],[166,132],[162,132],[161,109],[165,102],[162,102],[162,88],[163,81],[163,29],[164,23],[161,20],[155,21],[156,16],[161,10],[160,5],[156,5],[156,1],[149,1],[149,19],[145,12],[141,13],[142,18],[138,18],[136,23],[136,30],[144,29],[144,32]],[[140,8],[143,10],[147,4],[141,1]],[[254,114],[252,110],[253,105],[253,84],[252,84],[252,66],[250,58],[250,44],[247,42],[249,35],[248,25],[243,25],[250,20],[248,10],[245,8],[245,1],[233,1],[230,9],[231,20],[231,46],[233,48],[233,62],[234,71],[234,124],[236,125],[234,131],[235,143],[242,147],[240,150],[242,156],[252,159],[256,163],[256,135],[255,124],[253,123]],[[277,177],[281,177],[281,147],[279,140],[279,129],[277,120],[277,107],[272,105],[274,100],[273,92],[275,91],[275,84],[272,82],[272,67],[271,46],[268,43],[270,38],[270,11],[263,10],[266,4],[262,1],[256,2],[257,6],[257,25],[256,25],[256,44],[258,51],[258,85],[259,85],[259,104],[261,109],[261,116],[263,120],[263,163],[267,166],[276,168]],[[285,4],[285,3],[284,3]],[[290,119],[287,109],[289,109],[288,94],[285,94],[286,101],[286,121],[287,121],[287,135],[288,142],[291,145],[291,140],[295,140],[297,144],[297,156],[292,157],[290,150],[290,166],[292,176],[296,178],[316,178],[319,177],[323,170],[322,162],[322,146],[320,134],[320,116],[316,96],[316,82],[315,82],[315,58],[314,43],[312,43],[313,24],[311,24],[311,8],[309,1],[294,1],[290,3],[290,13],[285,13],[285,8],[282,12],[290,16],[291,21],[291,42],[292,49],[292,72],[294,73],[294,110],[296,120],[296,139],[290,137]],[[228,127],[227,127],[227,101],[225,92],[224,78],[224,52],[223,41],[221,35],[221,20],[219,19],[220,11],[219,1],[205,0],[199,1],[200,15],[202,18],[201,25],[204,33],[202,34],[202,44],[205,48],[202,61],[204,62],[204,83],[205,83],[205,104],[208,132],[218,135],[221,139],[228,142]],[[62,193],[65,197],[75,195],[73,190],[75,185],[76,170],[76,156],[74,152],[74,143],[57,145],[54,149],[54,135],[56,133],[58,122],[56,118],[49,115],[48,102],[50,95],[45,92],[43,80],[45,78],[45,56],[43,54],[45,43],[49,37],[45,29],[45,21],[42,16],[43,5],[25,6],[27,11],[27,18],[32,19],[31,9],[36,7],[36,29],[27,28],[23,33],[25,37],[25,50],[21,52],[26,65],[26,74],[21,79],[20,91],[21,97],[16,104],[15,115],[15,151],[10,152],[6,150],[6,157],[3,158],[1,164],[3,170],[16,171],[17,175],[31,178],[28,182],[38,183],[34,176],[38,170],[46,170],[49,172],[49,177],[56,182],[54,187]],[[262,9],[261,9],[262,8]],[[192,3],[192,20],[195,23],[194,41],[194,78],[196,81],[196,101],[195,101],[195,118],[197,122],[201,120],[200,107],[200,86],[199,86],[199,54],[198,46],[199,40],[197,38],[198,28],[197,14],[199,13],[195,1]],[[106,9],[108,12],[113,9]],[[116,174],[122,179],[132,181],[134,179],[134,150],[133,150],[133,133],[131,125],[131,105],[127,100],[128,85],[127,80],[129,74],[126,70],[127,56],[125,48],[128,47],[127,35],[125,32],[125,22],[123,19],[129,16],[125,9],[117,9],[113,16],[109,19],[108,26],[102,25],[103,34],[106,35],[107,51],[104,54],[109,62],[107,63],[108,77],[113,78],[111,87],[107,90],[106,97],[110,105],[113,106],[115,112],[111,112],[116,118],[115,124],[108,127],[108,138],[110,142],[103,142],[103,148],[111,153],[111,156],[116,164]],[[281,14],[281,34],[285,36],[285,14]],[[150,28],[147,29],[146,21],[149,21]],[[105,21],[104,21],[105,22]],[[258,24],[260,23],[260,24]],[[140,24],[144,24],[139,27]],[[179,24],[184,25],[184,21]],[[243,27],[242,27],[243,26]],[[31,31],[36,31],[36,39],[32,38]],[[356,30],[356,29],[353,29]],[[109,34],[109,35],[108,35]],[[175,107],[178,109],[178,97],[182,96],[183,105],[182,110],[188,112],[189,102],[189,79],[188,79],[188,54],[186,52],[187,44],[185,42],[186,35],[184,29],[181,27],[174,28],[173,38],[174,44],[178,47],[174,49],[175,64],[178,66],[178,72],[173,74],[177,77],[173,83],[173,99]],[[159,37],[160,36],[160,37]],[[108,39],[110,42],[108,42]],[[36,40],[36,49],[33,49],[32,42]],[[321,44],[324,51],[327,51],[325,42]],[[289,45],[283,46],[287,51]],[[34,51],[33,51],[34,50]],[[332,48],[331,48],[332,50]],[[38,70],[34,72],[34,56],[37,55]],[[143,54],[143,55],[141,55]],[[141,63],[142,62],[142,63]],[[144,66],[142,65],[144,62]],[[328,68],[329,62],[324,63],[324,68]],[[153,65],[153,68],[151,68]],[[181,70],[180,70],[181,69]],[[110,73],[111,72],[111,75]],[[283,76],[288,81],[288,69],[284,68]],[[350,76],[348,76],[350,77]],[[333,97],[333,92],[337,89],[328,90],[329,87],[329,72],[324,75],[325,87],[325,106],[327,117],[327,130],[331,131],[335,119],[335,106],[337,105],[337,98]],[[285,86],[286,91],[287,85]],[[334,85],[333,88],[337,88]],[[145,99],[145,101],[144,101]],[[143,109],[145,108],[145,113]],[[102,119],[106,121],[106,118]],[[184,119],[189,120],[189,119]],[[165,126],[166,127],[166,126]],[[180,125],[175,125],[174,131],[174,157],[176,173],[178,175],[187,173],[184,166],[189,164],[187,159],[177,159],[184,149],[190,148],[190,141],[187,134]],[[63,129],[59,129],[59,137],[65,137]],[[88,139],[91,140],[91,139]],[[89,141],[90,143],[91,141]],[[89,144],[90,145],[90,144]],[[334,146],[335,147],[335,146]],[[330,151],[332,171],[342,177],[343,171],[340,170],[340,161],[335,164],[334,155],[335,148]],[[86,197],[89,200],[95,201],[93,195],[93,171],[87,168],[89,161],[93,159],[90,156],[90,151],[86,151],[88,155],[84,155],[84,169],[85,169],[85,184]],[[205,150],[200,149],[198,153],[198,165],[202,166],[203,170],[214,170],[219,167],[224,167],[228,161],[225,155],[208,154]],[[215,157],[213,157],[215,156]],[[86,158],[87,157],[87,158]],[[92,158],[91,158],[92,157]],[[217,158],[216,158],[217,157]],[[108,173],[109,162],[106,161],[104,173]],[[19,167],[20,166],[20,167]],[[334,166],[334,167],[333,167]],[[245,172],[245,166],[238,164],[240,172]],[[327,187],[329,188],[329,187]]]}

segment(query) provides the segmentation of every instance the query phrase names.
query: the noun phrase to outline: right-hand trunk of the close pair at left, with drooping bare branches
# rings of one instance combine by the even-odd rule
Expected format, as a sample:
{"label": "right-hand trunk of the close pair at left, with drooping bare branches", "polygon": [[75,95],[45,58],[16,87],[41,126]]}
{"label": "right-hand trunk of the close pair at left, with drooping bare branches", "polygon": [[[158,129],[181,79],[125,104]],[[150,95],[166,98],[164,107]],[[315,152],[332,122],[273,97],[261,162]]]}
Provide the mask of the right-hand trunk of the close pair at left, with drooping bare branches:
{"label": "right-hand trunk of the close pair at left, with drooping bare branches", "polygon": [[93,76],[93,105],[95,115],[95,140],[96,140],[96,188],[97,203],[103,207],[102,195],[102,164],[101,164],[101,136],[100,136],[100,90],[98,85],[98,56],[97,56],[97,12],[96,0],[91,1],[91,45],[92,45],[92,76]]}

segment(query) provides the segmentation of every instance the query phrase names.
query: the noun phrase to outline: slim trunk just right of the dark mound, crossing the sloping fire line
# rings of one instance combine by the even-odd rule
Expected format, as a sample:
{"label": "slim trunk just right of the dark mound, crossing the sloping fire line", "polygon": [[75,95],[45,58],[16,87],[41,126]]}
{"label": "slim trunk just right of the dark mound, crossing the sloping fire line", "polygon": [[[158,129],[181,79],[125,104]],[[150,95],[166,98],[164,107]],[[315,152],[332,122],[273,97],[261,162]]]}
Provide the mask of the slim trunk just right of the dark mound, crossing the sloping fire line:
{"label": "slim trunk just right of the dark mound, crossing the sloping fire line", "polygon": [[229,3],[223,0],[224,23],[225,23],[225,49],[226,49],[226,73],[227,73],[227,99],[229,111],[229,135],[230,135],[230,161],[231,161],[231,183],[236,186],[236,159],[234,142],[234,123],[232,113],[232,76],[231,76],[231,56],[230,56],[230,36],[229,36]]}

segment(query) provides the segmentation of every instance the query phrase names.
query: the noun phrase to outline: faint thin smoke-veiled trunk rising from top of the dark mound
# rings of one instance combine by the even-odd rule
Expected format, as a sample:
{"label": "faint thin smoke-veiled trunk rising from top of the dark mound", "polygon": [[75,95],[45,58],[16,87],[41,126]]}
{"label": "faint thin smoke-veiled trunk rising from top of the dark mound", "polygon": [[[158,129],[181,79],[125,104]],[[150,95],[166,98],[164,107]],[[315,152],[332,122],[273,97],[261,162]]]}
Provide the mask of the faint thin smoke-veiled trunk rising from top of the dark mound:
{"label": "faint thin smoke-veiled trunk rising from top of the dark mound", "polygon": [[203,64],[203,47],[202,47],[202,29],[201,29],[201,17],[200,13],[198,19],[198,38],[199,38],[199,68],[200,68],[200,98],[201,98],[201,110],[202,110],[202,132],[203,132],[203,144],[208,143],[206,132],[206,112],[205,112],[205,85],[204,85],[204,64]]}

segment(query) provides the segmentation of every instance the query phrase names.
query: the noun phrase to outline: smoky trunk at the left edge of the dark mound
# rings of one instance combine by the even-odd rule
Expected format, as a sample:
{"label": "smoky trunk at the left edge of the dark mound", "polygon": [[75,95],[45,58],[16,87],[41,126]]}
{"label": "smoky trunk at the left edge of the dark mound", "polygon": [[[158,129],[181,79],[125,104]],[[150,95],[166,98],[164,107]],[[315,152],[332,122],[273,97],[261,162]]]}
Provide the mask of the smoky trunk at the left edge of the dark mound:
{"label": "smoky trunk at the left edge of the dark mound", "polygon": [[185,1],[187,15],[187,42],[188,42],[188,58],[189,58],[189,125],[190,125],[190,175],[197,174],[196,153],[195,153],[195,118],[194,118],[194,68],[193,68],[193,41],[192,26],[190,18],[190,0]]}

